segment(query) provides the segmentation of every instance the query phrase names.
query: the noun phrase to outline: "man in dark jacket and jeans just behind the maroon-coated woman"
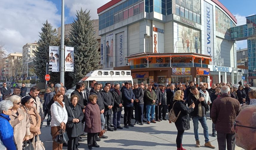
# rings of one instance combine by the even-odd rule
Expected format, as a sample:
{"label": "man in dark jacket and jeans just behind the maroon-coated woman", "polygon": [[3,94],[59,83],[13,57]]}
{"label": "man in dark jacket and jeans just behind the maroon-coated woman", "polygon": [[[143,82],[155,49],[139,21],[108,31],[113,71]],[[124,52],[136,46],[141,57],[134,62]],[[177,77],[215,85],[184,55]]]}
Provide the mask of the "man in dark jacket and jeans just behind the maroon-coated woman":
{"label": "man in dark jacket and jeans just behind the maroon-coated woman", "polygon": [[[106,123],[106,121],[103,114],[105,107],[104,107],[104,101],[103,101],[102,95],[100,94],[100,85],[101,84],[99,82],[94,83],[94,88],[91,89],[90,95],[93,94],[97,96],[97,104],[99,105],[99,110],[100,110],[101,129],[103,130],[104,124]],[[101,138],[108,138],[108,137],[103,135]],[[99,140],[97,139],[97,141]]]}

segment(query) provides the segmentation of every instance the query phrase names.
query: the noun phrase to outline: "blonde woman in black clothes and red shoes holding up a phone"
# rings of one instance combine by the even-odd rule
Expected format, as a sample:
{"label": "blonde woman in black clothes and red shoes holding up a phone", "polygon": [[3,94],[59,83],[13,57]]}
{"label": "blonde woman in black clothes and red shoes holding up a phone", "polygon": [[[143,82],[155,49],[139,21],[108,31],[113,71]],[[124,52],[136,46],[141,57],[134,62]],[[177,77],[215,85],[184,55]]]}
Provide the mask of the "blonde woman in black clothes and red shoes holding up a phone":
{"label": "blonde woman in black clothes and red shoes holding up a phone", "polygon": [[[188,113],[192,112],[195,107],[194,103],[191,104],[189,107],[187,107],[185,102],[183,101],[183,98],[184,98],[183,91],[177,90],[174,93],[173,110],[174,110],[175,116],[178,117],[178,119],[175,122],[175,126],[178,130],[178,134],[176,138],[177,150],[185,150],[182,147],[182,137],[183,137],[184,131],[190,129]],[[171,123],[171,121],[169,121],[169,123]]]}

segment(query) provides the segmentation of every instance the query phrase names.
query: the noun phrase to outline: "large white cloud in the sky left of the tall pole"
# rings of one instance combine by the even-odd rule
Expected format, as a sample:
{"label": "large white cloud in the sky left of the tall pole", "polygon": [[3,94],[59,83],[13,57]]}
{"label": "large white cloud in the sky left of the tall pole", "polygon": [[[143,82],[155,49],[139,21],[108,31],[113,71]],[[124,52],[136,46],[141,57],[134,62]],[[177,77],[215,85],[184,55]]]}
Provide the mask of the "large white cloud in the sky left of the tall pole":
{"label": "large white cloud in the sky left of the tall pole", "polygon": [[26,43],[39,39],[42,24],[46,19],[57,28],[61,16],[54,3],[47,0],[0,0],[0,43],[7,54],[22,52]]}

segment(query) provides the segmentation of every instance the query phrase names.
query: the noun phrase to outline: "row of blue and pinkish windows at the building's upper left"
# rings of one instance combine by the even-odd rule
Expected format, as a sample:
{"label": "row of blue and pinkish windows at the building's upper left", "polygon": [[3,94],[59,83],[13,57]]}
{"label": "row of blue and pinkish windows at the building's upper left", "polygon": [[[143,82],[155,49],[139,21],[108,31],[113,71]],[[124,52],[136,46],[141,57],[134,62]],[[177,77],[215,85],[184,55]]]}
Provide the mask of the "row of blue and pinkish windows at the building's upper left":
{"label": "row of blue and pinkish windows at the building's upper left", "polygon": [[[147,0],[146,0],[147,1]],[[145,4],[146,5],[146,4]],[[99,30],[144,11],[144,0],[127,0],[99,15]]]}

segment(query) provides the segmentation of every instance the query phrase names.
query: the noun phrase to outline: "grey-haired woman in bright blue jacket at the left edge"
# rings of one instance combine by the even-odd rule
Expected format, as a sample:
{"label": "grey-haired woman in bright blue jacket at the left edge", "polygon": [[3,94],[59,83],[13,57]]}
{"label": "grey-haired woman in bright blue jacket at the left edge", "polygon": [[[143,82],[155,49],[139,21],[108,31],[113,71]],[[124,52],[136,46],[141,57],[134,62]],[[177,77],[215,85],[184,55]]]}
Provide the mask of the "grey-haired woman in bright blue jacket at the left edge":
{"label": "grey-haired woman in bright blue jacket at the left edge", "polygon": [[9,116],[13,111],[13,103],[11,101],[0,102],[0,148],[7,150],[16,150],[16,146],[13,141],[13,127],[10,125]]}

